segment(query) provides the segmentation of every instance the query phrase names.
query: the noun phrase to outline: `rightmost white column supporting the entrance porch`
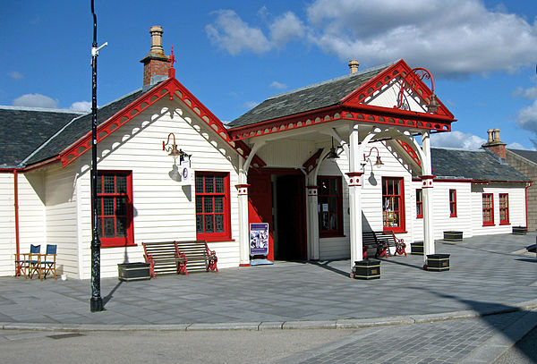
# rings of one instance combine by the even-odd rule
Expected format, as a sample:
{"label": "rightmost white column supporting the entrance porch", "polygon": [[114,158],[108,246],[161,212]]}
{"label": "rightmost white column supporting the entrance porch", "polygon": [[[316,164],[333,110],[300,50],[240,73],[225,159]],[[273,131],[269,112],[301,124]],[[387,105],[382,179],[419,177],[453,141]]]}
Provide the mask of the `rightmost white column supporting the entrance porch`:
{"label": "rightmost white column supporting the entrance porch", "polygon": [[430,132],[422,132],[422,192],[423,192],[423,262],[427,261],[428,254],[435,253],[434,226],[432,216],[432,188],[433,178],[430,161]]}

